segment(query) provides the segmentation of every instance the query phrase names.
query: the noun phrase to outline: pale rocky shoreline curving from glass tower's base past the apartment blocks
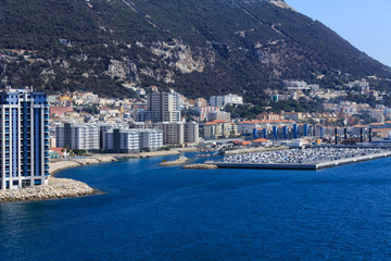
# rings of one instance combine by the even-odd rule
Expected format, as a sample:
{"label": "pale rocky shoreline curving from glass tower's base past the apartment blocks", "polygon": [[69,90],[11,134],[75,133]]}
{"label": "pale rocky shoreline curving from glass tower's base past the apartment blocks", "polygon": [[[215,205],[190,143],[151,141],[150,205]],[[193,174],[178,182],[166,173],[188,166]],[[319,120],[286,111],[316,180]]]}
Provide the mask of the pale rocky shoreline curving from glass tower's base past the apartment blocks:
{"label": "pale rocky shoreline curving from glass tower's base past the apartment blocks", "polygon": [[54,174],[59,171],[84,165],[109,163],[119,159],[142,159],[180,154],[197,151],[197,148],[172,149],[139,153],[124,154],[94,154],[86,159],[72,159],[49,163],[49,181],[47,186],[34,186],[20,189],[0,190],[0,203],[14,201],[35,201],[61,198],[77,198],[102,194],[102,191],[88,186],[86,183],[72,178],[58,178]]}

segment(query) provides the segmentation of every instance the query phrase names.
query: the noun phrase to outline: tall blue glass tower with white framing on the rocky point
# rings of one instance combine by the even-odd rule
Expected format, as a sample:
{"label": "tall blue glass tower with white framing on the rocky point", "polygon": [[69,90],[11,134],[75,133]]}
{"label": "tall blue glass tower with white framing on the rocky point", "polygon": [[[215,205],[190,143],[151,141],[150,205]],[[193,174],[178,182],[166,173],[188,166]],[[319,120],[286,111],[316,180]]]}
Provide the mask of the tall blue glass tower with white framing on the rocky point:
{"label": "tall blue glass tower with white framing on the rocky point", "polygon": [[49,105],[33,89],[0,91],[0,189],[47,185]]}

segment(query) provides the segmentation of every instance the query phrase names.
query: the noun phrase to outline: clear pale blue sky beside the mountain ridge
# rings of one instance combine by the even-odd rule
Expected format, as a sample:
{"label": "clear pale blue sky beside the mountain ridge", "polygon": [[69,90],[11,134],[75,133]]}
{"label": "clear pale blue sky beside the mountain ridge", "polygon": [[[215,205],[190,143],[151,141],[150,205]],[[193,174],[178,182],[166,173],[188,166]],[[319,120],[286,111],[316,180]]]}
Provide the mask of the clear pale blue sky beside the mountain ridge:
{"label": "clear pale blue sky beside the mountain ridge", "polygon": [[391,0],[286,0],[354,47],[391,66]]}

